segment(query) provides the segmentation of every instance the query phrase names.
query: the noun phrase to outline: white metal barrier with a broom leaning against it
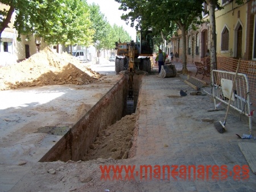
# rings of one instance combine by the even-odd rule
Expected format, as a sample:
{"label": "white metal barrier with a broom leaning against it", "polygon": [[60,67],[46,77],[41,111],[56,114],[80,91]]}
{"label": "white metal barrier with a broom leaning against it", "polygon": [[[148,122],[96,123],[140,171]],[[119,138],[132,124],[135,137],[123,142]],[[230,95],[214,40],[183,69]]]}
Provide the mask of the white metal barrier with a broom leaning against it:
{"label": "white metal barrier with a broom leaning against it", "polygon": [[[251,123],[251,102],[250,102],[250,90],[249,81],[246,74],[238,73],[236,81],[234,82],[234,87],[232,90],[233,80],[236,73],[226,72],[222,70],[212,71],[212,82],[213,86],[213,98],[215,108],[220,105],[220,103],[225,103],[228,105],[229,99],[230,107],[234,110],[249,118],[249,130],[252,133],[252,123]],[[231,91],[233,92],[230,98]],[[216,103],[216,100],[219,103]]]}

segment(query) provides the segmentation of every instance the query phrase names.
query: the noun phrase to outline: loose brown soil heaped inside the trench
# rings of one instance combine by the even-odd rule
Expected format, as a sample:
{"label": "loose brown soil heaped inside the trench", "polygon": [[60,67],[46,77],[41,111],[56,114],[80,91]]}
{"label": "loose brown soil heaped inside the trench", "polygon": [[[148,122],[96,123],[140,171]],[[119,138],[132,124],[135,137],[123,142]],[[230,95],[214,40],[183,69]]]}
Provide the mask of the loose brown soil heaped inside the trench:
{"label": "loose brown soil heaped inside the trench", "polygon": [[126,115],[112,126],[100,130],[83,161],[97,158],[115,160],[128,158],[129,150],[133,145],[135,121],[135,114]]}

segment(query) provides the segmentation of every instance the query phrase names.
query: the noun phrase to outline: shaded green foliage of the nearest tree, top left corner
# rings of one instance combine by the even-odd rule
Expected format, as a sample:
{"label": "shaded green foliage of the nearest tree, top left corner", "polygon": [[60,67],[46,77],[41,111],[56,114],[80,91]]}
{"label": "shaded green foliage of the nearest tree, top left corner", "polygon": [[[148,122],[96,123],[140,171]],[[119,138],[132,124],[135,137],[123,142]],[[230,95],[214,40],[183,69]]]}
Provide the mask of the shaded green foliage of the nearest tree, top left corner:
{"label": "shaded green foliage of the nearest tree, top left corner", "polygon": [[[0,32],[10,23],[11,16],[15,10],[15,22],[14,27],[18,31],[18,39],[20,35],[34,34],[40,27],[44,26],[48,30],[52,27],[50,19],[56,19],[54,13],[58,12],[60,7],[59,1],[47,2],[47,1],[1,1],[3,4],[10,6],[9,10],[3,10],[1,12],[1,28]],[[51,13],[52,16],[51,16]],[[47,32],[47,31],[46,31]]]}

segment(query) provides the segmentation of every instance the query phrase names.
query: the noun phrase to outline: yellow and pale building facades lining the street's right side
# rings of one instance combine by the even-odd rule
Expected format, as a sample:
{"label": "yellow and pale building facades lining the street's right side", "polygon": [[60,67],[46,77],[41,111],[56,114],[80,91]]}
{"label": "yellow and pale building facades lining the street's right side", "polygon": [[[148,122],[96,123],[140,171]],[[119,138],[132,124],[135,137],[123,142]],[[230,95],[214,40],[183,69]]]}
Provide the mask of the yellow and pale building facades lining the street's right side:
{"label": "yellow and pale building facades lining the street's right side", "polygon": [[[233,57],[242,60],[256,60],[256,39],[255,39],[255,15],[256,0],[243,1],[237,5],[232,0],[219,0],[223,7],[215,11],[216,35],[217,35],[217,56]],[[207,11],[207,4],[203,5]],[[187,31],[187,62],[200,61],[205,57],[207,49],[210,49],[210,24],[209,15],[202,12],[205,23],[197,26],[197,30]],[[172,52],[182,53],[180,47],[180,31],[178,36],[170,39]],[[182,59],[182,58],[181,58]]]}

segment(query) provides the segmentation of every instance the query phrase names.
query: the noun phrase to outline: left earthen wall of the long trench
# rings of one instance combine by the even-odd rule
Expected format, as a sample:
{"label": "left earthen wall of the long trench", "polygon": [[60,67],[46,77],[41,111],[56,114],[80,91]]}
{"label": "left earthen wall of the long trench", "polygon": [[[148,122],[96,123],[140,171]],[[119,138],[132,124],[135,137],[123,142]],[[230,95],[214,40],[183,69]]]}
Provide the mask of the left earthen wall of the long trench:
{"label": "left earthen wall of the long trench", "polygon": [[122,118],[123,103],[127,97],[127,77],[112,87],[76,124],[73,126],[40,162],[44,161],[79,161],[83,160],[102,128],[114,124]]}

